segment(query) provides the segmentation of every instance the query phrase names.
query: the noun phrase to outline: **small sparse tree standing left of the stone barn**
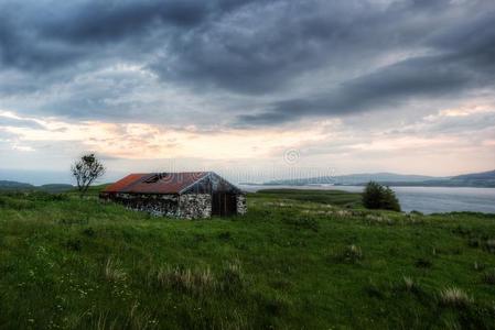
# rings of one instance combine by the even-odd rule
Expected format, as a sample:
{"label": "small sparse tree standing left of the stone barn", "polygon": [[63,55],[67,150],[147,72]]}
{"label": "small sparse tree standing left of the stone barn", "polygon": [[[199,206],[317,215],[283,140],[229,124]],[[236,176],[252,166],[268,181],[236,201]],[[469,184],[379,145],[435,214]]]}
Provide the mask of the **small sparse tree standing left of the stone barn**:
{"label": "small sparse tree standing left of the stone barn", "polygon": [[96,158],[95,154],[87,154],[71,166],[71,172],[76,178],[77,190],[83,197],[89,186],[105,174],[105,166]]}

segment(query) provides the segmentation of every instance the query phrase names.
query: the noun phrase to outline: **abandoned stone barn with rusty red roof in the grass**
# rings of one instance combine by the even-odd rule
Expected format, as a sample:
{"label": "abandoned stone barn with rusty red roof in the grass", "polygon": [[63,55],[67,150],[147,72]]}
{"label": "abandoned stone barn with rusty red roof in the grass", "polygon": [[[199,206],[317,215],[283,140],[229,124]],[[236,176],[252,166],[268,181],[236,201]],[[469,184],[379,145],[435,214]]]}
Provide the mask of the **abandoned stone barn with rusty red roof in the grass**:
{"label": "abandoned stone barn with rusty red roof in the grass", "polygon": [[100,198],[155,216],[185,219],[244,215],[246,195],[213,172],[130,174]]}

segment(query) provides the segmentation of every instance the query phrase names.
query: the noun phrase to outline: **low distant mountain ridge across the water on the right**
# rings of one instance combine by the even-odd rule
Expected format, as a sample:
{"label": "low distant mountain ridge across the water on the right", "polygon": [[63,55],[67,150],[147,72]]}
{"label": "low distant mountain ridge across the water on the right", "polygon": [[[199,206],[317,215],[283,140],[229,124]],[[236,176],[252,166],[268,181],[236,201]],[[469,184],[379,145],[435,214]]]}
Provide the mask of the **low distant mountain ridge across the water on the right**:
{"label": "low distant mountain ridge across the water on the right", "polygon": [[495,170],[464,174],[453,177],[433,177],[423,175],[402,175],[396,173],[351,174],[342,176],[321,176],[310,178],[271,180],[268,186],[305,186],[335,185],[362,186],[368,182],[377,182],[388,186],[422,187],[495,187]]}

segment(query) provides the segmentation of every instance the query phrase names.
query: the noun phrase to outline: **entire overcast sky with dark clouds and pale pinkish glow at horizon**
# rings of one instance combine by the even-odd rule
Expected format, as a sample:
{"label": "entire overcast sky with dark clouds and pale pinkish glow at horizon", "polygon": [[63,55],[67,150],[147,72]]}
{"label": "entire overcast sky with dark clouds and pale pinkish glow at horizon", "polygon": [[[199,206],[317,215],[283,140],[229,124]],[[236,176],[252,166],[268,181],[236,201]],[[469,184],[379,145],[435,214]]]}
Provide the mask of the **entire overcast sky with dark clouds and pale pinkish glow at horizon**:
{"label": "entire overcast sky with dark clouds and pale pinkish glow at horizon", "polygon": [[493,0],[0,0],[0,170],[493,169],[494,22]]}

